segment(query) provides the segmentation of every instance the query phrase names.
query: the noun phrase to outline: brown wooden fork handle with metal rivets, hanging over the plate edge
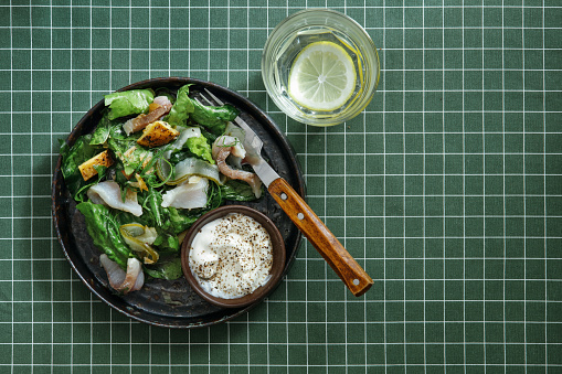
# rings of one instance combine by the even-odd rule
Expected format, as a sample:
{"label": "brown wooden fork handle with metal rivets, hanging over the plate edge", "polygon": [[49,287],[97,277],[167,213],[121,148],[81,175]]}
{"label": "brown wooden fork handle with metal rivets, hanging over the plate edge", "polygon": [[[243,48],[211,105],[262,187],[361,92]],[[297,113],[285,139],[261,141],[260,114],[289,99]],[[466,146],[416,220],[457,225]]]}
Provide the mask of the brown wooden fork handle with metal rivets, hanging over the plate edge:
{"label": "brown wooden fork handle with metal rivets, hanging over the plate edge", "polygon": [[267,190],[354,296],[361,296],[371,288],[371,277],[287,181],[278,178]]}

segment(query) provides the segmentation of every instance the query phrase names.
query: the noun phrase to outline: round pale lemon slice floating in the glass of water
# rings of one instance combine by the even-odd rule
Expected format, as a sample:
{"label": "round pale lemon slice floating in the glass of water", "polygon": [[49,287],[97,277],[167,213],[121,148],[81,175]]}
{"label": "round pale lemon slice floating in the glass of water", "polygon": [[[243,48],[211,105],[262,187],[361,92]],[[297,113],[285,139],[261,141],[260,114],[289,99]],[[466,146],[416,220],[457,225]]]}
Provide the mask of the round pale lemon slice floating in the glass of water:
{"label": "round pale lemon slice floating in the glass of water", "polygon": [[307,45],[289,72],[288,94],[310,110],[332,111],[349,100],[356,88],[356,68],[336,43]]}

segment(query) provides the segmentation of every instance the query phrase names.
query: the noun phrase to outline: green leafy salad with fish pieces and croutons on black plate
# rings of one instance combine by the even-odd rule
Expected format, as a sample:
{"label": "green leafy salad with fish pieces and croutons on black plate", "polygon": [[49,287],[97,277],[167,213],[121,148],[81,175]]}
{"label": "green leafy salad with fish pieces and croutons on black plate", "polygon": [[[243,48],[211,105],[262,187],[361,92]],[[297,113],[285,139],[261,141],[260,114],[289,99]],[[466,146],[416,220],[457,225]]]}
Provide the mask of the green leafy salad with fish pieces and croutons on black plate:
{"label": "green leafy salad with fish pieces and croutons on black plate", "polygon": [[62,142],[64,182],[118,292],[180,278],[188,228],[229,201],[262,195],[244,133],[230,122],[237,109],[202,105],[189,88],[106,95],[95,130]]}

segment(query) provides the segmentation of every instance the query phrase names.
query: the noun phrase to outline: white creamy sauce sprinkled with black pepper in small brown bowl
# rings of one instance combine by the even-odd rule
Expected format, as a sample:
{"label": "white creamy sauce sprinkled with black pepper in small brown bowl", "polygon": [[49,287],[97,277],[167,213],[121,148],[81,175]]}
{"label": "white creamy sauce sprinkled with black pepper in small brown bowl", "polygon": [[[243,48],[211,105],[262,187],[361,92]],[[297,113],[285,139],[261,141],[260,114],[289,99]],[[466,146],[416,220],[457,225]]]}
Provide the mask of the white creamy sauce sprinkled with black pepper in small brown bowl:
{"label": "white creamy sauce sprinkled with black pepper in small brown bowl", "polygon": [[231,213],[199,231],[191,243],[189,265],[208,293],[240,298],[269,280],[272,239],[254,218]]}

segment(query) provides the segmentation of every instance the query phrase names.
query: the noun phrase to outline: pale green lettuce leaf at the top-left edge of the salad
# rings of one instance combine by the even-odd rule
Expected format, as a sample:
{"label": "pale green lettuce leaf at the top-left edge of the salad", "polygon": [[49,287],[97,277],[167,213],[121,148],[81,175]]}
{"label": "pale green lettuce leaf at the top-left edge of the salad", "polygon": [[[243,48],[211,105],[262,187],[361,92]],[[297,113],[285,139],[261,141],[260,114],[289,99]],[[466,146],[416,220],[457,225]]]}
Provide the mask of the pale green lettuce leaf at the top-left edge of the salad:
{"label": "pale green lettuce leaf at the top-left edge of the salad", "polygon": [[155,99],[152,89],[131,89],[105,95],[105,105],[109,106],[109,119],[146,113]]}

